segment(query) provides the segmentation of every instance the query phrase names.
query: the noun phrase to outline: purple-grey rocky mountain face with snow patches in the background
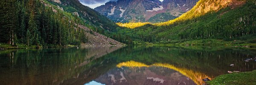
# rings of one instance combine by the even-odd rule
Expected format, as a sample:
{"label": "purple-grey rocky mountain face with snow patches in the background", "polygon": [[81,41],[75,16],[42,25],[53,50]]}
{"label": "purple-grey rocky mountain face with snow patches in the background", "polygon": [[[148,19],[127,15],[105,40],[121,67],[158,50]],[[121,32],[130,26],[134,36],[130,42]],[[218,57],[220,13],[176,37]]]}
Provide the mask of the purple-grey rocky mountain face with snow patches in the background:
{"label": "purple-grey rocky mountain face with snow patches in the background", "polygon": [[198,0],[117,0],[94,8],[115,22],[159,23],[189,11]]}

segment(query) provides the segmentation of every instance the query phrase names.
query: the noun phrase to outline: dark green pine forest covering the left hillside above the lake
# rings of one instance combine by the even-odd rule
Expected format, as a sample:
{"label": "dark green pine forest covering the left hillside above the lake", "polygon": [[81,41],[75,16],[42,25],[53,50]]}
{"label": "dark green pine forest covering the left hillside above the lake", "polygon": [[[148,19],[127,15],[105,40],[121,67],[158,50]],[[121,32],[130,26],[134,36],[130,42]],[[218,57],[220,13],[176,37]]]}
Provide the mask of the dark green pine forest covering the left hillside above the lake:
{"label": "dark green pine forest covering the left hillside above the lake", "polygon": [[[0,42],[10,45],[79,45],[86,42],[79,19],[45,6],[43,0],[1,0]],[[72,15],[70,15],[72,16]]]}

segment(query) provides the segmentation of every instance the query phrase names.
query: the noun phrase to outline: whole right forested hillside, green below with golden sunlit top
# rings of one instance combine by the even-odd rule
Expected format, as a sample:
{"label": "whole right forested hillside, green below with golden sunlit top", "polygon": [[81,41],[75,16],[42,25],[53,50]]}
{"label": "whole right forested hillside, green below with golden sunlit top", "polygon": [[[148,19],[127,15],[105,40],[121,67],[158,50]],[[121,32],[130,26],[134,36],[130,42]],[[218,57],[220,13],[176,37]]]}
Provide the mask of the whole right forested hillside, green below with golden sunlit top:
{"label": "whole right forested hillside, green below with golden sunlit top", "polygon": [[[127,33],[134,40],[155,43],[176,43],[204,39],[241,40],[244,41],[242,43],[255,43],[255,0],[231,0],[236,2],[227,3],[224,7],[216,6],[218,8],[215,10],[208,10],[212,8],[204,7],[205,3],[210,4],[211,2],[213,4],[216,3],[215,1],[223,2],[226,0],[200,0],[195,6],[199,8],[194,7],[192,12],[185,13],[174,22],[148,24],[134,29],[125,28],[120,30],[119,34]],[[208,10],[208,12],[195,12],[199,9]]]}

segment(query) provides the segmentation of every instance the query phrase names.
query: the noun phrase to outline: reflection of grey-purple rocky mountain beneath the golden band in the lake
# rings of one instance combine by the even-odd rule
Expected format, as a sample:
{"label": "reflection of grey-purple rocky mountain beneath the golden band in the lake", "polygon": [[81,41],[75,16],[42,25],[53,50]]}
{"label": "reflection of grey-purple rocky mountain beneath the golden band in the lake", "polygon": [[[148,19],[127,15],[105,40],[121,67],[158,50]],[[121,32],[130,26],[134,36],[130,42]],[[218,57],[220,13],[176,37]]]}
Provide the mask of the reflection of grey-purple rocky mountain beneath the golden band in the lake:
{"label": "reflection of grey-purple rocky mountain beneath the golden band in the lake", "polygon": [[95,81],[106,85],[196,85],[179,71],[157,65],[114,68]]}

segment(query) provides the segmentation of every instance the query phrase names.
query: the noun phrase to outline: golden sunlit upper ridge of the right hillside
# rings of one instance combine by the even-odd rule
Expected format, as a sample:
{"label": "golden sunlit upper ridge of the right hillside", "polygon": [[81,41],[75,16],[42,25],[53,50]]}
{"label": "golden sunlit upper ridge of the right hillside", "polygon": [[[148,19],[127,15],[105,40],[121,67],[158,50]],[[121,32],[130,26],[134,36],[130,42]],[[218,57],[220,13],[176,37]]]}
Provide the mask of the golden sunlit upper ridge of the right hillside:
{"label": "golden sunlit upper ridge of the right hillside", "polygon": [[157,26],[170,25],[175,22],[193,19],[200,17],[209,12],[217,12],[220,9],[230,7],[230,9],[241,6],[246,0],[199,0],[197,4],[188,12],[182,14],[180,17],[163,23],[157,23]]}

